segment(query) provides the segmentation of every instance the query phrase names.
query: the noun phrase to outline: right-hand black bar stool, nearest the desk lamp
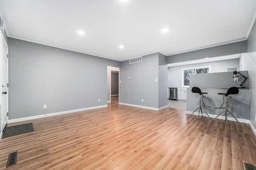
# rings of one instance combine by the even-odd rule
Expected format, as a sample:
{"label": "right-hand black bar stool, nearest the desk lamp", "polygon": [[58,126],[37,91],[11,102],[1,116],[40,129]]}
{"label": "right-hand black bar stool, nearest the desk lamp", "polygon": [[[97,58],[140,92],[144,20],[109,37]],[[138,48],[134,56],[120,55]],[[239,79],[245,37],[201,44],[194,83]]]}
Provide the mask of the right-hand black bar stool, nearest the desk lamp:
{"label": "right-hand black bar stool, nearest the desk lamp", "polygon": [[[220,107],[215,107],[215,108],[217,108],[217,109],[225,108],[225,110],[222,111],[222,112],[220,112],[220,113],[215,117],[215,119],[216,119],[219,115],[221,115],[222,113],[225,112],[226,125],[228,125],[228,113],[230,113],[230,114],[234,117],[234,115],[228,110],[228,96],[229,96],[230,94],[238,94],[238,93],[239,93],[239,90],[238,90],[237,87],[230,87],[226,93],[218,93],[218,94],[223,95],[223,102],[222,102],[221,106],[224,104],[224,96],[226,96],[226,101],[225,101],[226,107],[221,107],[221,106],[220,106]],[[230,96],[229,96],[229,97],[230,97]],[[230,97],[230,98],[232,98],[232,97]],[[236,117],[234,117],[234,118],[236,119]],[[215,120],[215,119],[214,119],[214,120]],[[236,119],[236,121],[239,123],[239,125],[241,125],[241,123],[240,123],[237,119]]]}

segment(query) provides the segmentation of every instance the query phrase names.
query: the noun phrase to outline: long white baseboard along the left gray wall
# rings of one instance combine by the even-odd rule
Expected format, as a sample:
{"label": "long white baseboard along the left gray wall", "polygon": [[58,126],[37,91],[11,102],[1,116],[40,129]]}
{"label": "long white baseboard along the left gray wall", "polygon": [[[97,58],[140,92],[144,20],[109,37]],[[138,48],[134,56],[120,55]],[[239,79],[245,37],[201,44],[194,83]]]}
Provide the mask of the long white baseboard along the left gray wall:
{"label": "long white baseboard along the left gray wall", "polygon": [[67,113],[74,113],[74,112],[85,111],[85,110],[90,110],[90,109],[98,109],[98,108],[102,108],[102,107],[108,107],[108,105],[95,106],[95,107],[87,107],[87,108],[83,108],[83,109],[75,109],[75,110],[68,110],[68,111],[60,111],[60,112],[56,112],[56,113],[48,113],[48,114],[44,114],[44,115],[22,117],[22,118],[18,118],[18,119],[10,119],[8,121],[8,123],[27,121],[27,120],[38,119],[38,118],[49,117],[49,116],[63,115],[63,114],[67,114]]}

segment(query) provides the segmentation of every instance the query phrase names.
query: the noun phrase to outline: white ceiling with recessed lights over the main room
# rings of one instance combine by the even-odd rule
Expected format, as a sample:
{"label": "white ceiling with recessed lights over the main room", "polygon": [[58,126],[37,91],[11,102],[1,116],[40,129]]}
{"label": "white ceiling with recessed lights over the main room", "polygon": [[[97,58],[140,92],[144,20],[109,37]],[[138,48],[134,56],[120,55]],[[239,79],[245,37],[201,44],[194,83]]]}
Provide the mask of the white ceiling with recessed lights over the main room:
{"label": "white ceiling with recessed lights over the main room", "polygon": [[246,40],[256,0],[0,0],[0,12],[9,37],[124,61]]}

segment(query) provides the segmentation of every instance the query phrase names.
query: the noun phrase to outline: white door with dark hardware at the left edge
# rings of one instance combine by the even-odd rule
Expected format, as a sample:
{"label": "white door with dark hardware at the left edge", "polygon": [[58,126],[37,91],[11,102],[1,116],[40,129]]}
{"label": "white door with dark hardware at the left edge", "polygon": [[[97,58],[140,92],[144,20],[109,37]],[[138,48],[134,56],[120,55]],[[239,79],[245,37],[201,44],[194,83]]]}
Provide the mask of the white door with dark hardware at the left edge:
{"label": "white door with dark hardware at the left edge", "polygon": [[8,46],[2,36],[2,130],[8,123]]}

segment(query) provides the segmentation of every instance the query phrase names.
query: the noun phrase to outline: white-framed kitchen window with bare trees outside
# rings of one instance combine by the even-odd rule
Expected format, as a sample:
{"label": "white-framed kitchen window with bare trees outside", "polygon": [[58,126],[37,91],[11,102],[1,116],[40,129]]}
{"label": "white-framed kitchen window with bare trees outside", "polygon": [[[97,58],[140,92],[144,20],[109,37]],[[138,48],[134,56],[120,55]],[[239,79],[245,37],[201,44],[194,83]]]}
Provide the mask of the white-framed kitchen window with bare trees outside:
{"label": "white-framed kitchen window with bare trees outside", "polygon": [[182,68],[182,87],[189,87],[190,74],[210,73],[211,66],[202,66],[194,68]]}

